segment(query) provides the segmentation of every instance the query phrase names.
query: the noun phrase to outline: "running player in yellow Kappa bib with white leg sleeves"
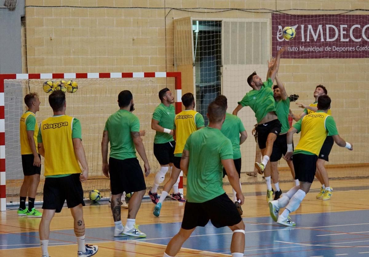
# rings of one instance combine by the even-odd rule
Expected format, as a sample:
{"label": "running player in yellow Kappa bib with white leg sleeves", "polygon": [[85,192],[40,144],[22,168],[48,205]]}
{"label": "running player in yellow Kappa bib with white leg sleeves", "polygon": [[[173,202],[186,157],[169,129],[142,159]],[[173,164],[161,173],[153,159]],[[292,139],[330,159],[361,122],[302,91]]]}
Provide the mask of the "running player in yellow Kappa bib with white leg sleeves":
{"label": "running player in yellow Kappa bib with white leg sleeves", "polygon": [[[352,150],[352,145],[345,142],[337,131],[336,124],[332,116],[328,115],[331,106],[331,99],[328,95],[321,95],[318,98],[317,112],[304,116],[295,123],[287,133],[287,153],[286,159],[292,156],[293,134],[301,131],[299,144],[293,151],[293,166],[296,177],[300,181],[299,186],[294,186],[287,193],[282,194],[278,200],[269,202],[269,211],[274,221],[285,226],[294,226],[289,214],[299,208],[301,201],[309,192],[313,183],[318,154],[325,138],[332,136],[333,140],[340,147]],[[286,207],[281,215],[279,209]]]}

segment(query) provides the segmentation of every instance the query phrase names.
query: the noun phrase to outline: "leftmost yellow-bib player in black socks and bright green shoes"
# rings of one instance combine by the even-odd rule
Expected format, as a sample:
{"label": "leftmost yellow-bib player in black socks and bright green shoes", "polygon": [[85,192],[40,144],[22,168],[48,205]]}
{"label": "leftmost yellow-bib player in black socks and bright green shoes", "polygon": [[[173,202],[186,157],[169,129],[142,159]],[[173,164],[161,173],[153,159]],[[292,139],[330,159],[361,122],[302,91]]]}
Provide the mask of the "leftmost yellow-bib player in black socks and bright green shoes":
{"label": "leftmost yellow-bib player in black socks and bright green shoes", "polygon": [[[41,212],[35,209],[34,206],[41,174],[41,156],[36,148],[38,134],[36,112],[40,110],[41,102],[36,93],[30,93],[24,97],[24,103],[28,110],[23,113],[19,122],[24,180],[20,190],[20,204],[17,214],[18,216],[27,215],[27,217],[41,218]],[[28,208],[25,207],[27,195]]]}

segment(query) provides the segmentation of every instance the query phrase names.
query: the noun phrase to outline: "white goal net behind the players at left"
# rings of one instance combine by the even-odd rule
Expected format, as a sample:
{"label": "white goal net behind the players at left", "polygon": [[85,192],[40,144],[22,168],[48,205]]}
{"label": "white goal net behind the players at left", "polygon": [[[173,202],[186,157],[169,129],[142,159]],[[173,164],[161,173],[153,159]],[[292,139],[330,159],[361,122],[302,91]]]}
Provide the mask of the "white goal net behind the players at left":
{"label": "white goal net behind the players at left", "polygon": [[[155,173],[160,168],[153,153],[155,131],[151,129],[152,113],[160,103],[158,98],[160,89],[168,87],[172,92],[175,92],[175,78],[144,78],[142,76],[142,78],[65,77],[62,79],[4,80],[7,204],[18,204],[20,187],[24,177],[19,141],[19,119],[27,110],[27,106],[24,104],[24,96],[30,92],[37,92],[39,95],[41,105],[39,112],[36,114],[39,126],[42,120],[53,115],[48,102],[49,94],[42,89],[44,82],[49,80],[54,82],[73,80],[78,83],[78,90],[75,93],[66,93],[66,114],[79,119],[82,126],[82,143],[89,166],[89,179],[82,184],[85,197],[88,198],[89,191],[93,189],[99,190],[103,197],[109,197],[110,180],[103,176],[101,172],[101,138],[107,118],[119,109],[118,94],[125,89],[132,92],[135,103],[133,113],[138,116],[140,130],[146,131],[142,141],[151,166],[151,174],[145,177],[145,182],[146,187],[151,189]],[[178,92],[180,94],[180,90]],[[55,154],[59,158],[63,158],[63,153]],[[138,154],[137,157],[143,167],[143,162]],[[43,176],[44,159],[41,158],[41,160],[41,180],[37,189],[36,201],[42,200],[45,180]],[[169,173],[166,180],[168,178]]]}

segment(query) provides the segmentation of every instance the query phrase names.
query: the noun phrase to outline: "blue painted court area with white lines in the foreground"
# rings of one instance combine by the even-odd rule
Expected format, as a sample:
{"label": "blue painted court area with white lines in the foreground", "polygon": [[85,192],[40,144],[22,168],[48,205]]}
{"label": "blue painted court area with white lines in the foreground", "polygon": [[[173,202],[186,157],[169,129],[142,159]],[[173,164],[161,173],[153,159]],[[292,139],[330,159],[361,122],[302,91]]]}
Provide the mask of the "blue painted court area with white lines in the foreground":
{"label": "blue painted court area with white lines in the foreground", "polygon": [[[369,256],[368,216],[369,210],[292,215],[296,227],[280,226],[270,217],[244,218],[245,256]],[[180,223],[141,225],[147,238],[118,239],[167,244],[179,228]],[[86,229],[86,242],[114,241],[113,230],[113,227]],[[183,247],[230,254],[231,237],[230,229],[216,229],[209,223],[197,228]],[[0,249],[39,246],[37,232],[2,234],[0,242]],[[73,230],[50,233],[49,246],[63,244],[75,244]]]}

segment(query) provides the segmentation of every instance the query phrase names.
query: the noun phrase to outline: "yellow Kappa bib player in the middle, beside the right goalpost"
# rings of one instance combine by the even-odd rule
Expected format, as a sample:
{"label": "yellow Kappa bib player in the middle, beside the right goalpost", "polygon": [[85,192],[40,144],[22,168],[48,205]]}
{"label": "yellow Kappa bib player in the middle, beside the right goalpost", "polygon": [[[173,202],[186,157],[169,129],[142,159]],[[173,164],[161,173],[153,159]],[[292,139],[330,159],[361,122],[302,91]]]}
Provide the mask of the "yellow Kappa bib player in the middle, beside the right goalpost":
{"label": "yellow Kappa bib player in the middle, beside the right goalpost", "polygon": [[[164,185],[162,194],[159,198],[159,202],[155,205],[153,214],[157,217],[160,215],[162,203],[165,197],[168,196],[169,190],[175,183],[179,183],[179,175],[181,171],[180,161],[187,138],[192,134],[192,132],[205,126],[203,116],[194,110],[195,98],[193,97],[193,94],[192,93],[184,94],[182,96],[182,103],[186,109],[175,116],[173,126],[173,137],[176,140],[173,165],[175,166],[176,169],[172,170],[170,179]],[[182,203],[186,201],[181,197],[180,193],[178,194],[173,193],[171,197]]]}

